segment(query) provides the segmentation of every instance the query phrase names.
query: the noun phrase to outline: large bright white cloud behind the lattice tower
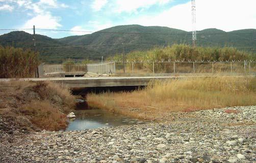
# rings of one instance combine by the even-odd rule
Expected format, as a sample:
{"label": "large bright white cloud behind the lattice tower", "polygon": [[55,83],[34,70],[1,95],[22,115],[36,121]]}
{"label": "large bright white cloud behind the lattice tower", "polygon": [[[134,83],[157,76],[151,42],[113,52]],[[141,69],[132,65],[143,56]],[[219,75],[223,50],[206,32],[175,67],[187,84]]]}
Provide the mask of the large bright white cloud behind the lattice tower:
{"label": "large bright white cloud behind the lattice tower", "polygon": [[[256,1],[244,0],[197,0],[196,28],[218,28],[232,31],[244,28],[256,28]],[[158,25],[192,30],[191,3],[177,5],[155,16],[142,16],[130,19],[126,24],[145,26]]]}

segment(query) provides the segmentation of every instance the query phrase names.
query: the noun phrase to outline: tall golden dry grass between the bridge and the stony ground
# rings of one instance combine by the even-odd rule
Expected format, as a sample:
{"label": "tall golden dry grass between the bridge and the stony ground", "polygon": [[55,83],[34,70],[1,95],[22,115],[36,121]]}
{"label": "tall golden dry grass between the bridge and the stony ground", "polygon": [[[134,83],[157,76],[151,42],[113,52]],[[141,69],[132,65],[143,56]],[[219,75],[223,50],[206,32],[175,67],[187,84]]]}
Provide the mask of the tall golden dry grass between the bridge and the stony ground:
{"label": "tall golden dry grass between the bridge and the stony ground", "polygon": [[208,77],[155,81],[143,90],[89,94],[88,104],[142,119],[166,112],[256,105],[255,77]]}

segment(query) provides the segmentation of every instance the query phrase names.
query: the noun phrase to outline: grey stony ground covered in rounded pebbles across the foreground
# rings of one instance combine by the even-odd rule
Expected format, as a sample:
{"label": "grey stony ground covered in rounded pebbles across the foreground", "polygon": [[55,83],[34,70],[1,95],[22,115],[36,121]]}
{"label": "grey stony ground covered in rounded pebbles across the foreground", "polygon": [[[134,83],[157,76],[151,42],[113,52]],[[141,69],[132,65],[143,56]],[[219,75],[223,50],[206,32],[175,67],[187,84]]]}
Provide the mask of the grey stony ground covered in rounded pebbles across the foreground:
{"label": "grey stony ground covered in rounded pebbles across the foreground", "polygon": [[256,106],[168,115],[86,131],[1,130],[0,162],[256,162]]}

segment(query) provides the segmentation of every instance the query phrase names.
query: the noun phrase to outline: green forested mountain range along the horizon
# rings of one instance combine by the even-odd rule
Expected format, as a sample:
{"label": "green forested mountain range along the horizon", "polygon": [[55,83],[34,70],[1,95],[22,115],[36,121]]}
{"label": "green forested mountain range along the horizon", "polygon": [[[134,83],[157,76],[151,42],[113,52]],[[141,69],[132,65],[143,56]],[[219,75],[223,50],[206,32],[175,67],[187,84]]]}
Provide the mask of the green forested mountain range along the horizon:
{"label": "green forested mountain range along the horizon", "polygon": [[[67,58],[99,60],[116,53],[146,50],[157,45],[191,44],[191,32],[162,26],[120,25],[89,35],[52,39],[36,35],[42,61],[57,63]],[[0,36],[0,45],[33,48],[33,35],[12,31]],[[197,31],[197,46],[233,46],[256,53],[256,29],[225,32],[216,28]]]}

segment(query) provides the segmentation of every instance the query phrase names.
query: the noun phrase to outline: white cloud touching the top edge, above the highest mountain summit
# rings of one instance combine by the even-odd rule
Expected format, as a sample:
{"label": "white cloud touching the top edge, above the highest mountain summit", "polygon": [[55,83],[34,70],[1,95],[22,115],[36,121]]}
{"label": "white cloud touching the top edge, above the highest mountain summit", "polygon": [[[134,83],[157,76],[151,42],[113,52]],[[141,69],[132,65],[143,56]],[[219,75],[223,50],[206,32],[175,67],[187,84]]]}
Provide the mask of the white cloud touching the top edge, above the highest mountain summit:
{"label": "white cloud touching the top edge, above the highest mountain summit", "polygon": [[118,1],[114,3],[114,12],[116,13],[132,13],[137,12],[140,8],[148,8],[152,5],[159,4],[164,5],[172,0],[130,0],[130,1]]}

